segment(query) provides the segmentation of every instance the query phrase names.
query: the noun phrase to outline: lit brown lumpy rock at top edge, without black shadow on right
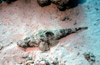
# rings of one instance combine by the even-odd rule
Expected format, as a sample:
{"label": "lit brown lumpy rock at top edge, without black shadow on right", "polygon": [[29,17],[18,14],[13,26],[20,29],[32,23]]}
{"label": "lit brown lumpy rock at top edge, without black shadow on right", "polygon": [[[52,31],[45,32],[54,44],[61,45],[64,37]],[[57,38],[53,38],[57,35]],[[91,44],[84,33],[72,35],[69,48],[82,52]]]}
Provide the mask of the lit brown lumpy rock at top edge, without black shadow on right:
{"label": "lit brown lumpy rock at top edge, without black shadow on right", "polygon": [[66,10],[66,5],[68,4],[69,0],[37,0],[37,3],[41,6],[47,6],[50,5],[50,3],[53,3],[57,5],[57,8],[60,11]]}

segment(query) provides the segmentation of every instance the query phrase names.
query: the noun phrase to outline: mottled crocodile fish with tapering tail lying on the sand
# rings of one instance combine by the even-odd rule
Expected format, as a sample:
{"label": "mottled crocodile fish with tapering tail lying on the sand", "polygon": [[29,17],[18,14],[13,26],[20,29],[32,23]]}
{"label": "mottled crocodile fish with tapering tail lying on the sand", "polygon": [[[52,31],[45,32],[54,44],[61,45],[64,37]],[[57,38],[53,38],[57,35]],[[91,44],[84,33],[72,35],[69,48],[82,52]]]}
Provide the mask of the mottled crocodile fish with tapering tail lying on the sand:
{"label": "mottled crocodile fish with tapering tail lying on the sand", "polygon": [[59,30],[39,30],[34,35],[19,40],[17,42],[17,45],[22,48],[39,47],[41,51],[48,51],[50,50],[51,46],[54,46],[59,42],[59,39],[72,33],[76,33],[81,29],[87,28],[88,27],[68,28]]}

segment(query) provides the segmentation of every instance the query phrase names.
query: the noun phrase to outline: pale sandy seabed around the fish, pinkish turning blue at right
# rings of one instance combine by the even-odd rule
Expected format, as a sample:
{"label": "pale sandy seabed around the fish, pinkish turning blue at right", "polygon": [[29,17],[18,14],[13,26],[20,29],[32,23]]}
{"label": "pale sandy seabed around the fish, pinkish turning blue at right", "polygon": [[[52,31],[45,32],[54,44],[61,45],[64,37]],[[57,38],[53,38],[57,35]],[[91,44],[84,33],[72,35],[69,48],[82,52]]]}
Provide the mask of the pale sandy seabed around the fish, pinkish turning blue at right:
{"label": "pale sandy seabed around the fish, pinkish turning blue at right", "polygon": [[[100,0],[87,0],[66,11],[59,11],[54,4],[42,8],[36,0],[30,1],[0,6],[0,65],[23,65],[31,61],[34,65],[44,60],[58,62],[57,65],[100,65]],[[82,26],[88,29],[64,37],[48,52],[42,53],[38,47],[19,48],[16,43],[37,30]],[[89,62],[85,52],[93,53],[95,62]]]}

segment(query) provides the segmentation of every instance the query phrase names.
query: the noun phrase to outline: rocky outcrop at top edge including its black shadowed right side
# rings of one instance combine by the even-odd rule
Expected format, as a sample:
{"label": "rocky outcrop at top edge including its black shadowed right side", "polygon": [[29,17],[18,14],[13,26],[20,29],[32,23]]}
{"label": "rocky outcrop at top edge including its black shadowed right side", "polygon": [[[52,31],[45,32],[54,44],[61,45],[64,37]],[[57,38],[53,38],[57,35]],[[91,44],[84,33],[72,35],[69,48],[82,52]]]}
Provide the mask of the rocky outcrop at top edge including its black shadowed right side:
{"label": "rocky outcrop at top edge including its black shadowed right side", "polygon": [[78,0],[37,0],[37,3],[41,6],[50,5],[53,3],[57,6],[60,11],[65,11],[66,9],[76,7],[78,5]]}

